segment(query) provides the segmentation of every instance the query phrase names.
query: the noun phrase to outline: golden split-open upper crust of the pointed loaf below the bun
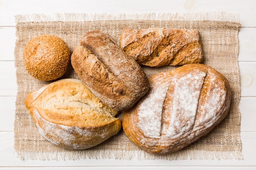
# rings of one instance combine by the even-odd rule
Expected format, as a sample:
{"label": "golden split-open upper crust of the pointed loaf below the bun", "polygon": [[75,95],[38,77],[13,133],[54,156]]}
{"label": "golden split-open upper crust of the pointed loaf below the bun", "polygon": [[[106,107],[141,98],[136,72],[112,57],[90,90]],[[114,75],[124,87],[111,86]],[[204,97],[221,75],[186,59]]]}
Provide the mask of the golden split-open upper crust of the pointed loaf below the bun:
{"label": "golden split-open upper crust of the pointed loaf below the bun", "polygon": [[79,80],[62,79],[29,96],[36,95],[34,101],[27,102],[28,107],[36,108],[44,119],[53,123],[88,127],[117,119],[118,112],[103,104]]}

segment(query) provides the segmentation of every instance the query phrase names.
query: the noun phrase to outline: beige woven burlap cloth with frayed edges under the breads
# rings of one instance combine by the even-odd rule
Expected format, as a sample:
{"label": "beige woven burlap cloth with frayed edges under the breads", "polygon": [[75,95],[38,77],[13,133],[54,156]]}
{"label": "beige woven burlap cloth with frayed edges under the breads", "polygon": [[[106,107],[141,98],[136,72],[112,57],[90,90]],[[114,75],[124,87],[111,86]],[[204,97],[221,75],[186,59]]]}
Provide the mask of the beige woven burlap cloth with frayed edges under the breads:
{"label": "beige woven burlap cloth with frayed edges under the breads", "polygon": [[[14,148],[21,159],[242,159],[240,141],[240,81],[238,70],[238,15],[230,13],[190,13],[140,15],[103,14],[56,14],[16,16],[15,66],[18,93],[14,124]],[[27,94],[50,82],[31,77],[22,63],[25,44],[37,35],[52,34],[62,38],[72,52],[82,36],[88,31],[102,30],[112,35],[119,43],[121,31],[129,27],[172,27],[198,29],[204,51],[204,62],[220,71],[231,85],[232,101],[227,117],[207,136],[186,148],[168,155],[151,155],[133,145],[121,130],[102,144],[87,150],[58,148],[41,137],[25,108]],[[143,67],[148,76],[173,69]],[[75,78],[72,66],[61,78]],[[119,115],[122,119],[122,114]]]}

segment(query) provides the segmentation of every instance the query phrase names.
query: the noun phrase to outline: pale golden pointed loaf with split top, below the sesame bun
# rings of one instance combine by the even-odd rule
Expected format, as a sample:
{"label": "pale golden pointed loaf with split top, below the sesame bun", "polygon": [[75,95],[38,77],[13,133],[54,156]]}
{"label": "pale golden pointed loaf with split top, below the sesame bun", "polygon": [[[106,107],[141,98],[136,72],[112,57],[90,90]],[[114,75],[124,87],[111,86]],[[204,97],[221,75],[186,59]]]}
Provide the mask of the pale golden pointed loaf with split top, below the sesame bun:
{"label": "pale golden pointed loaf with split top, below the sesame bun", "polygon": [[39,133],[56,146],[86,149],[121,129],[118,114],[76,79],[61,79],[29,93],[25,105]]}

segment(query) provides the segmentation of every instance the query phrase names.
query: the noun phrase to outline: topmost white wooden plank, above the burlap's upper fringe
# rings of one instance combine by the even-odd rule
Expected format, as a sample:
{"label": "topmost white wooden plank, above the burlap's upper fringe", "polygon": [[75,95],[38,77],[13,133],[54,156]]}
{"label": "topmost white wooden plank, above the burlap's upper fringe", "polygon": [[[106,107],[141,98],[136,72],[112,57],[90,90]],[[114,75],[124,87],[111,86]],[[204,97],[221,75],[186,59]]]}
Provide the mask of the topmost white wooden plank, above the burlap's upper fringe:
{"label": "topmost white wooden plank, above the burlap's upper fringe", "polygon": [[[86,10],[85,10],[86,8]],[[243,27],[255,27],[256,3],[253,0],[158,0],[149,3],[146,0],[129,0],[120,3],[119,0],[109,0],[107,7],[104,0],[2,0],[0,3],[0,26],[14,26],[13,15],[24,13],[195,13],[205,11],[226,11],[240,13],[240,23]]]}

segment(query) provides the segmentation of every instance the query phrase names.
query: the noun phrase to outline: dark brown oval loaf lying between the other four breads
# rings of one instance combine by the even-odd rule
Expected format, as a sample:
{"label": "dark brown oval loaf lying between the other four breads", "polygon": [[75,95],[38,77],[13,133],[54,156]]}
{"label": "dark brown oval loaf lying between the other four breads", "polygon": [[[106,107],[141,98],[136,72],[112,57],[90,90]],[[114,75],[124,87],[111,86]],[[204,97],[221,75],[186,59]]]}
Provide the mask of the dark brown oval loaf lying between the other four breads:
{"label": "dark brown oval loaf lying between the other four breads", "polygon": [[139,64],[102,31],[88,32],[74,49],[76,75],[103,103],[121,111],[148,91],[148,78]]}

